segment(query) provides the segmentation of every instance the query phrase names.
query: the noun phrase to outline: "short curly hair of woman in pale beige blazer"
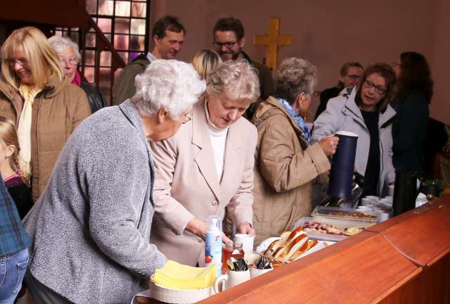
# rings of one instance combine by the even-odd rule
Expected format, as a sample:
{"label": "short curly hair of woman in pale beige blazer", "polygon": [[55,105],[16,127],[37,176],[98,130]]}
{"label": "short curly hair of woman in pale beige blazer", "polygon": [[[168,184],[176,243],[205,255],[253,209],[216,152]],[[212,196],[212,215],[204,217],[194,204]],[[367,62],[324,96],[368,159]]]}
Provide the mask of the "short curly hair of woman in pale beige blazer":
{"label": "short curly hair of woman in pale beige blazer", "polygon": [[207,93],[254,102],[259,97],[258,70],[248,61],[226,61],[207,77]]}

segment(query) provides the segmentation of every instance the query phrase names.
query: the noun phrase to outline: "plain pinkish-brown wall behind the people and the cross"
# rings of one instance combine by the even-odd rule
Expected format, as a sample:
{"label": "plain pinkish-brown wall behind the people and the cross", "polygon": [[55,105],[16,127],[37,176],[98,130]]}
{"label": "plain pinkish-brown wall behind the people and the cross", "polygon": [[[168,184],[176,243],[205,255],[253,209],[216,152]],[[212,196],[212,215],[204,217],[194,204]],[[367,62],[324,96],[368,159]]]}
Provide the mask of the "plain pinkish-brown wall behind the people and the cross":
{"label": "plain pinkish-brown wall behind the people and the cross", "polygon": [[[177,15],[188,30],[180,55],[184,61],[190,61],[199,49],[212,46],[212,27],[218,18],[226,16],[240,18],[247,38],[245,51],[262,61],[264,46],[252,45],[252,38],[267,32],[269,17],[281,18],[281,32],[293,36],[293,46],[281,47],[280,60],[297,56],[311,61],[321,75],[318,89],[337,82],[345,61],[391,63],[401,51],[419,51],[430,61],[436,80],[432,116],[450,123],[446,103],[450,92],[444,84],[444,71],[450,68],[446,56],[450,54],[450,41],[444,39],[450,28],[445,16],[450,11],[448,1],[153,0],[152,6],[158,3],[165,6],[160,15]],[[317,101],[313,110],[316,106]]]}

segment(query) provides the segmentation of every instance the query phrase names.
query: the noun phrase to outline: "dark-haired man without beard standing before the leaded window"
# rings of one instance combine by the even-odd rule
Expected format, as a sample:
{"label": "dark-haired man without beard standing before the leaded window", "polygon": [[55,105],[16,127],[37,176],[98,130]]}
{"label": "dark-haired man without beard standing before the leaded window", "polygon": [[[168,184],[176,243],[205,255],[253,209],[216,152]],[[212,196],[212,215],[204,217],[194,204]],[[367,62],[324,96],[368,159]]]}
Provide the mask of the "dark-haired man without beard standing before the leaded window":
{"label": "dark-haired man without beard standing before the leaded window", "polygon": [[156,59],[176,59],[184,44],[186,30],[179,19],[172,15],[165,15],[153,25],[153,50],[141,53],[128,63],[120,72],[113,86],[112,105],[116,106],[136,93],[134,78],[146,70],[148,65]]}

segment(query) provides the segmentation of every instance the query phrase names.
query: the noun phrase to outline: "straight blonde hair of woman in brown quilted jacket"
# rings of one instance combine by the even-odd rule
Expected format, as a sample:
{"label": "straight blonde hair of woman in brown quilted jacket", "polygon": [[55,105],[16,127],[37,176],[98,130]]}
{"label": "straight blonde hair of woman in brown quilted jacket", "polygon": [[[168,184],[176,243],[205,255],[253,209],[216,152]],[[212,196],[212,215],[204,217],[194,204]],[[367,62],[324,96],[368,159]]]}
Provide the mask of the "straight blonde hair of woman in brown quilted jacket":
{"label": "straight blonde hair of woman in brown quilted jacket", "polygon": [[45,35],[36,27],[21,27],[13,31],[1,48],[1,77],[15,89],[20,87],[20,78],[10,68],[8,58],[18,51],[25,54],[34,85],[43,85],[53,75],[63,80],[58,56]]}

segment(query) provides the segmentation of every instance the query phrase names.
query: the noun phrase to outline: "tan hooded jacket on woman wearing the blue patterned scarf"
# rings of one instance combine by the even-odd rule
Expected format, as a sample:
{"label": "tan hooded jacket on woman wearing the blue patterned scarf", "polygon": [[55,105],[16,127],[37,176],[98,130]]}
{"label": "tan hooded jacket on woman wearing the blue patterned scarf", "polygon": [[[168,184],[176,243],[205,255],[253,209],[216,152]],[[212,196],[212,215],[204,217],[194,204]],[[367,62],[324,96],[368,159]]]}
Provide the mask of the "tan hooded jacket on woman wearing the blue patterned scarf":
{"label": "tan hooded jacket on woman wearing the blue patterned scarf", "polygon": [[261,103],[253,119],[258,129],[255,153],[255,245],[311,214],[311,184],[330,170],[319,144],[307,147],[304,135],[276,99]]}

